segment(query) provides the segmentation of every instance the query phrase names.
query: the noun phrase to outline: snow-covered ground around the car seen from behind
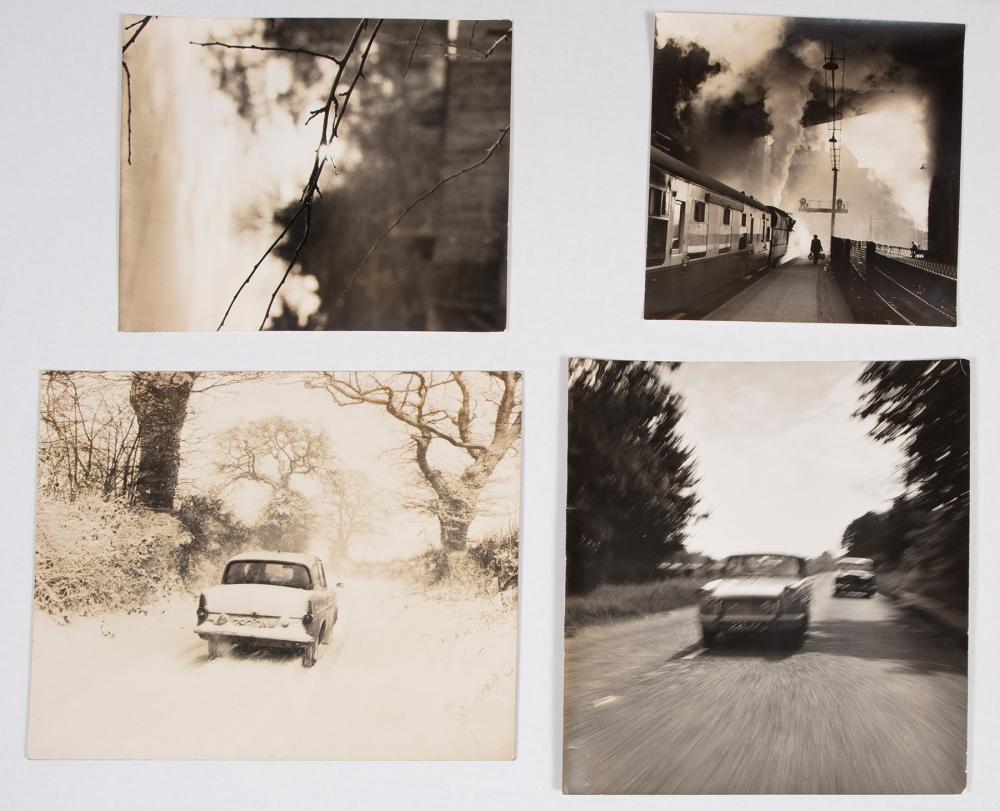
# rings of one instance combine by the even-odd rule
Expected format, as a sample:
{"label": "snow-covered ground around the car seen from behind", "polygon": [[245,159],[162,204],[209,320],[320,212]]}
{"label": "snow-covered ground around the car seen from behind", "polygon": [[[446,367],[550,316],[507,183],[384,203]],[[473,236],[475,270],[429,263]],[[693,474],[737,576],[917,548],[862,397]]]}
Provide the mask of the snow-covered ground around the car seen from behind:
{"label": "snow-covered ground around the car seen from behind", "polygon": [[28,755],[513,757],[516,600],[355,578],[340,601],[311,670],[292,652],[210,660],[192,630],[195,598],[70,625],[36,611]]}

